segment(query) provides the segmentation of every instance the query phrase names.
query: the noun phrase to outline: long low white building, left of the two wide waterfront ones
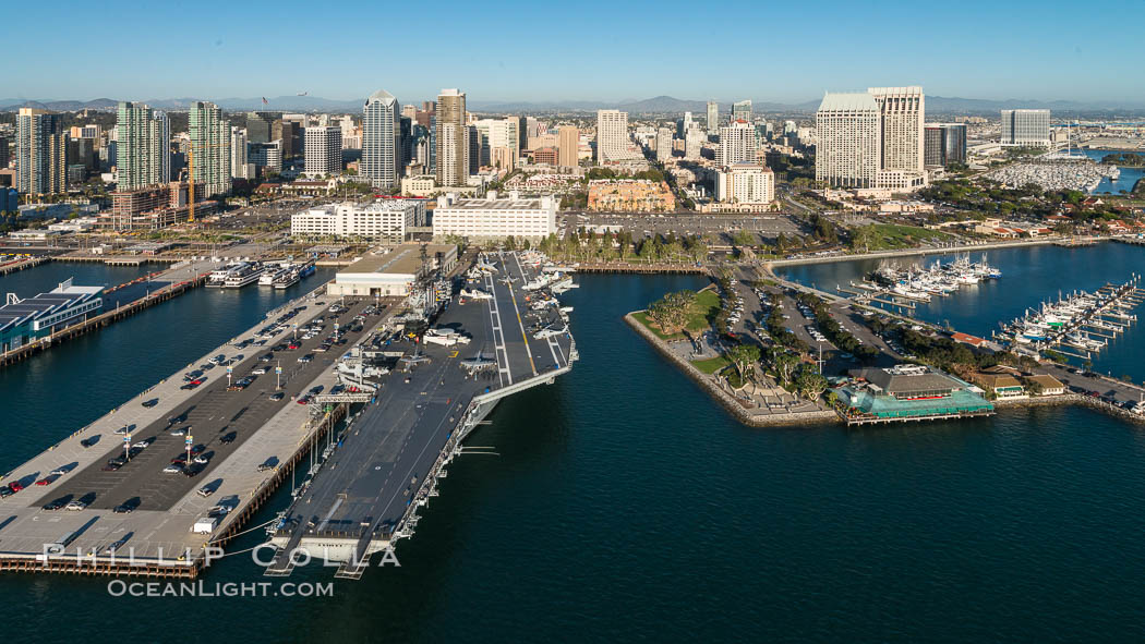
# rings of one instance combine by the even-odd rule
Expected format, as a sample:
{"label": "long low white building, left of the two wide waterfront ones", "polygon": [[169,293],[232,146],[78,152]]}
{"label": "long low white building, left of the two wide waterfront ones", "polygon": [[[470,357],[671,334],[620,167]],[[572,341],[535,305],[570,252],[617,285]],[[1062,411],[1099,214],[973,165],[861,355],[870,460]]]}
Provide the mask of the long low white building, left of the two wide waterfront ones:
{"label": "long low white building, left of the two wide waterfront ones", "polygon": [[291,234],[361,237],[402,241],[409,230],[425,225],[421,199],[381,199],[370,204],[330,204],[291,215]]}

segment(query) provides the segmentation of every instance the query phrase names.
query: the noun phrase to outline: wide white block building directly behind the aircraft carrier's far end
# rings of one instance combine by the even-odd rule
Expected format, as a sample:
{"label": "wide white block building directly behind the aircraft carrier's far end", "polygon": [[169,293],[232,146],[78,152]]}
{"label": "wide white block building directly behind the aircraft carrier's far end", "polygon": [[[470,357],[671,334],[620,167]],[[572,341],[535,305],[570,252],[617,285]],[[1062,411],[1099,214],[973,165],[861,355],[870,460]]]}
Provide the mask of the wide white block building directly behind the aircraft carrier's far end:
{"label": "wide white block building directly behind the aircraft carrier's far end", "polygon": [[457,199],[441,196],[433,212],[433,234],[457,234],[476,239],[526,237],[542,239],[556,232],[556,199],[522,199],[511,192],[507,199],[489,192],[484,199]]}

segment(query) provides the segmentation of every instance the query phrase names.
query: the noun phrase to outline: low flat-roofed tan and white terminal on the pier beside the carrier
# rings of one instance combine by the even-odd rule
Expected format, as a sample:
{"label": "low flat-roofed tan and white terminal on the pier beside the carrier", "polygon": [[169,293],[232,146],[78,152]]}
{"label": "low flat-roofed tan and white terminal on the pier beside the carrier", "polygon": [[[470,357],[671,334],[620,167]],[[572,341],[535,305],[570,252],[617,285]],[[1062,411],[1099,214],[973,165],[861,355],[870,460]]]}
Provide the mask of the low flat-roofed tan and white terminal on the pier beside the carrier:
{"label": "low flat-roofed tan and white terminal on the pier beside the carrier", "polygon": [[385,254],[371,254],[338,271],[326,293],[405,297],[419,279],[447,273],[457,265],[453,244],[402,244]]}

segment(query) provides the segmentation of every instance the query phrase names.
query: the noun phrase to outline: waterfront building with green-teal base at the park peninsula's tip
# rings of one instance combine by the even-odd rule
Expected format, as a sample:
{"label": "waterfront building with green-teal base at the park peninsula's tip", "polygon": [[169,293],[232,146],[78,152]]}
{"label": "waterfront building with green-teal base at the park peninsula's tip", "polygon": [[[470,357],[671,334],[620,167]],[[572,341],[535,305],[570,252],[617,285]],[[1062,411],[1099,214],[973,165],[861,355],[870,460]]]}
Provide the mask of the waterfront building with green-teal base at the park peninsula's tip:
{"label": "waterfront building with green-teal base at the park peninsula's tip", "polygon": [[923,365],[852,369],[835,389],[847,424],[989,415],[978,388]]}

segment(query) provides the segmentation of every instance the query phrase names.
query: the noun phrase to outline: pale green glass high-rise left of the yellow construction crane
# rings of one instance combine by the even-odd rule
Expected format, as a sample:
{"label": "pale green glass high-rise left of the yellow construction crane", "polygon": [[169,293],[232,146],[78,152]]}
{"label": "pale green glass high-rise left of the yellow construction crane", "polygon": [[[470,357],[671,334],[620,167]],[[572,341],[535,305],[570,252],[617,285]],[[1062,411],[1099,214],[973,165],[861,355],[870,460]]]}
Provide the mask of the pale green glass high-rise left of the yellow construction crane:
{"label": "pale green glass high-rise left of the yellow construction crane", "polygon": [[117,190],[171,181],[171,122],[142,103],[120,102],[116,119]]}

